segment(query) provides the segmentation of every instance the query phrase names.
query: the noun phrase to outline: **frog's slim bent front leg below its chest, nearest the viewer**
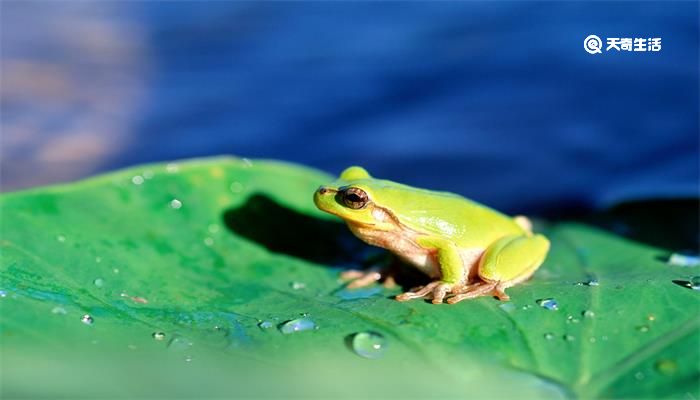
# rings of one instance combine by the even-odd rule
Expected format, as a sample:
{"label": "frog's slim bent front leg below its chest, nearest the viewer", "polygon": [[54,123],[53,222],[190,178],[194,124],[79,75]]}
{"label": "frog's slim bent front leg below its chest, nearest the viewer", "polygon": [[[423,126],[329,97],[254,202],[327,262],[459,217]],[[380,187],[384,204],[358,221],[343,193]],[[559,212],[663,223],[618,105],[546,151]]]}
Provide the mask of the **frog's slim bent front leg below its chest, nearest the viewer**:
{"label": "frog's slim bent front leg below its chest, nearest the viewer", "polygon": [[415,292],[400,294],[396,296],[396,300],[407,301],[431,296],[433,304],[440,304],[446,295],[458,293],[464,287],[467,276],[462,257],[459,249],[445,240],[422,239],[418,244],[424,248],[435,249],[440,267],[440,280],[431,282]]}

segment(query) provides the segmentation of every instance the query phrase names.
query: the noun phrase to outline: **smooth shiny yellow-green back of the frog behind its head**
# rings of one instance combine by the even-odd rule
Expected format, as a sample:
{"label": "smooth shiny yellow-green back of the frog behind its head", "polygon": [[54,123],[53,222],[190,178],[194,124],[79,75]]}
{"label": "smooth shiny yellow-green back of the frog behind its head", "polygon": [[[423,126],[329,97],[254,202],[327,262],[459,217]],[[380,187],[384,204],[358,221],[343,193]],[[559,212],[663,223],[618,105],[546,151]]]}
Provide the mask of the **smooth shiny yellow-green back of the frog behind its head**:
{"label": "smooth shiny yellow-green back of the frog behind its head", "polygon": [[444,237],[458,247],[487,247],[508,234],[522,233],[513,218],[449,192],[380,181],[375,202],[390,209],[413,231]]}

